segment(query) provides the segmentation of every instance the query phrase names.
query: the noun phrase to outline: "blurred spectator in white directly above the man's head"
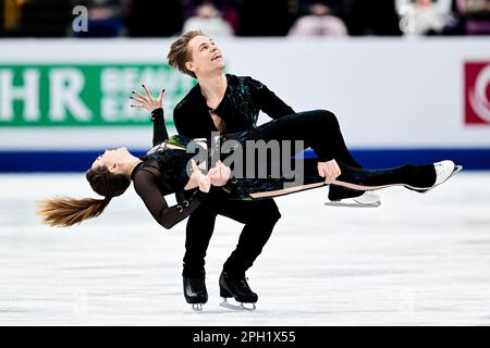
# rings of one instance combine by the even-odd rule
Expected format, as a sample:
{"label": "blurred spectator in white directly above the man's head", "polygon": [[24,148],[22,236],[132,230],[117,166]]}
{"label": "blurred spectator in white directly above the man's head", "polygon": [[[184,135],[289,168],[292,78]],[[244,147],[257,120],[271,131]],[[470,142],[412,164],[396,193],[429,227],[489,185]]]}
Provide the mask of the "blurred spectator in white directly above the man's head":
{"label": "blurred spectator in white directly above the man's head", "polygon": [[210,2],[196,9],[194,16],[184,22],[183,33],[203,30],[210,37],[234,35],[231,25],[223,20],[221,12]]}

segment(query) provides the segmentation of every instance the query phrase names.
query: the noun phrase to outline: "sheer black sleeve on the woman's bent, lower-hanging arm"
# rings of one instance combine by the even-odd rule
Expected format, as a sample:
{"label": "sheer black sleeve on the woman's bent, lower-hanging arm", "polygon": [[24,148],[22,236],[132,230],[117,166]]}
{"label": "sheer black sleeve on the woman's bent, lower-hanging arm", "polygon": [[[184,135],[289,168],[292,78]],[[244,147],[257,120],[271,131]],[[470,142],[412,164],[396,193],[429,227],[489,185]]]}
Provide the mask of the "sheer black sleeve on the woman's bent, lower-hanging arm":
{"label": "sheer black sleeve on the woman's bent, lower-hanging arm", "polygon": [[197,189],[180,204],[169,207],[155,183],[155,175],[143,169],[134,176],[134,188],[155,220],[168,229],[191,215],[207,196]]}

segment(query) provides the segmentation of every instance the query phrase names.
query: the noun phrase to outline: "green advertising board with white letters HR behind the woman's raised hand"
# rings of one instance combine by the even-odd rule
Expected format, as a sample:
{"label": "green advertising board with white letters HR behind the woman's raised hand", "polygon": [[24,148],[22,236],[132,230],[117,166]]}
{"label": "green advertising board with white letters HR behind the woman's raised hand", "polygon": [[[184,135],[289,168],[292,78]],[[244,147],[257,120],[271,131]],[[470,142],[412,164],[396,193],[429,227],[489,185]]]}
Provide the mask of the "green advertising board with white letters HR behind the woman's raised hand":
{"label": "green advertising board with white letters HR behind the woman's raised hand", "polygon": [[166,88],[167,123],[196,80],[167,64],[0,65],[0,127],[146,125],[131,108],[142,84],[157,97]]}

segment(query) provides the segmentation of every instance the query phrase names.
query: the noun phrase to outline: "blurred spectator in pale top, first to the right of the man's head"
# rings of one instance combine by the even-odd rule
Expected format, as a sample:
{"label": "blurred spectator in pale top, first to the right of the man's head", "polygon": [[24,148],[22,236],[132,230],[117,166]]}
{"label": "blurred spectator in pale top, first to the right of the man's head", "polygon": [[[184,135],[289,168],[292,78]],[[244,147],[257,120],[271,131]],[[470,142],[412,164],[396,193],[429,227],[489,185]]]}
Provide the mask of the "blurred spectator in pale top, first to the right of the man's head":
{"label": "blurred spectator in pale top, first to the right of the man's head", "polygon": [[347,36],[344,22],[331,14],[331,9],[320,1],[309,7],[309,14],[301,16],[291,27],[290,36]]}

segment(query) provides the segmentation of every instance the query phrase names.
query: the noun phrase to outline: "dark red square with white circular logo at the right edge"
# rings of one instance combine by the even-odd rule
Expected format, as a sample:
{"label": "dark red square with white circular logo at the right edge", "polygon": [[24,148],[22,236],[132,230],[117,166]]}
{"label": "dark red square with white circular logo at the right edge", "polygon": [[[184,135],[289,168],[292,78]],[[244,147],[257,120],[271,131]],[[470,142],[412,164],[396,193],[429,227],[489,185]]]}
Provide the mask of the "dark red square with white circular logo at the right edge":
{"label": "dark red square with white circular logo at the right edge", "polygon": [[490,125],[490,62],[465,63],[465,123]]}

